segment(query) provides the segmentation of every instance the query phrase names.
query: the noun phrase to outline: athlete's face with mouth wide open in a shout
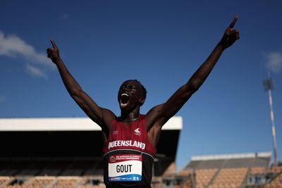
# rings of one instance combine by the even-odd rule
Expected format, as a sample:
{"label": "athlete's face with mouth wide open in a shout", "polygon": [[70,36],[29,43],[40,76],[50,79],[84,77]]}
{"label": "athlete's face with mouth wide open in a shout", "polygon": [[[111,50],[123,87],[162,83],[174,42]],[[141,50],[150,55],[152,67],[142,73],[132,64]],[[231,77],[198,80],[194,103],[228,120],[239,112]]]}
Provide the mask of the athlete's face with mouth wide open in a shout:
{"label": "athlete's face with mouth wide open in a shout", "polygon": [[128,80],[118,90],[118,103],[121,110],[133,110],[137,104],[143,104],[142,87],[138,82]]}

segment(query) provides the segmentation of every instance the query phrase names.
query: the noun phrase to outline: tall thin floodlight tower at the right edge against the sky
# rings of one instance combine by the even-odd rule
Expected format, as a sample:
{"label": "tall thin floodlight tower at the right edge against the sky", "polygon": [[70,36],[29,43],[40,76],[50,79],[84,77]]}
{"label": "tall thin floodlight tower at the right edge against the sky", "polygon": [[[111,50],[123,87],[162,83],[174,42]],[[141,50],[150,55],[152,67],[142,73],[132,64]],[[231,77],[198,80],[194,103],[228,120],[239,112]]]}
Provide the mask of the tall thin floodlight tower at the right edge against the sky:
{"label": "tall thin floodlight tower at the right edge against the sky", "polygon": [[272,79],[266,79],[263,81],[264,91],[269,93],[269,106],[270,106],[270,118],[271,118],[271,128],[272,128],[272,139],[274,144],[274,165],[277,165],[277,148],[276,148],[276,134],[275,134],[275,126],[274,126],[274,111],[273,111],[273,103],[272,103],[272,95],[271,90],[274,90],[274,82]]}

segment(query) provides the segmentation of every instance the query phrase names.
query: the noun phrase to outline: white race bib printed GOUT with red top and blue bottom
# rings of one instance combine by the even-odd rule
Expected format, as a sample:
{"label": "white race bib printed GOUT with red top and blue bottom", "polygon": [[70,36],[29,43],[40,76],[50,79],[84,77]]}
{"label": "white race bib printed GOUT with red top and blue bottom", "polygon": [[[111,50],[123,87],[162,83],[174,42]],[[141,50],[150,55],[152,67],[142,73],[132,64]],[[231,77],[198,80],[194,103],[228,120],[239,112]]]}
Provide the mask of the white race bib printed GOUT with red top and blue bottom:
{"label": "white race bib printed GOUT with red top and blue bottom", "polygon": [[142,179],[142,156],[109,156],[109,182],[139,182]]}

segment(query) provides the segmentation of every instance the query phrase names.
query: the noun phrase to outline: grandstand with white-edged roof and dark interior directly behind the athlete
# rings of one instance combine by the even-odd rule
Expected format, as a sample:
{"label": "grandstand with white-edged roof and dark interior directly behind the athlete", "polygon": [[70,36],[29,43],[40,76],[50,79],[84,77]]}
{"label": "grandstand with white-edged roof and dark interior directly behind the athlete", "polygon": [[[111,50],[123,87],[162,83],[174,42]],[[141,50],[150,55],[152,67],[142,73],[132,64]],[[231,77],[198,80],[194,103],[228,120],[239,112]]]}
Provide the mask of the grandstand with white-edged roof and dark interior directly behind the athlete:
{"label": "grandstand with white-edged roof and dark interior directly behind the athlete", "polygon": [[[152,187],[176,173],[182,118],[164,125]],[[1,118],[0,188],[104,187],[101,128],[89,118]]]}

